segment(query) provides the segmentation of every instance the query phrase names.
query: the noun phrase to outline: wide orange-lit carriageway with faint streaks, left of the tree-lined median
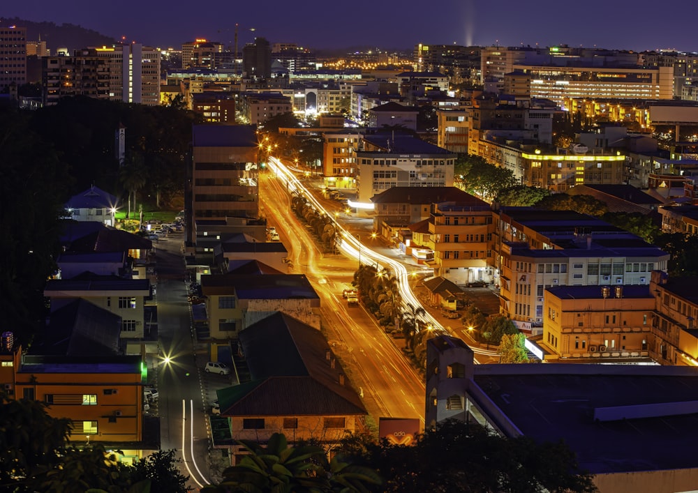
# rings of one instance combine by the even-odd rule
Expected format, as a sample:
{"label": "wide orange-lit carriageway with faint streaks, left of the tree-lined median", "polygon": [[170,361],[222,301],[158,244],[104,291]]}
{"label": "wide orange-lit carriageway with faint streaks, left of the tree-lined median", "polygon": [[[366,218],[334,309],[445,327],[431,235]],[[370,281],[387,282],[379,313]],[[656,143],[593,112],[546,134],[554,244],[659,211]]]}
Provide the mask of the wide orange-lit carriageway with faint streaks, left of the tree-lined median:
{"label": "wide orange-lit carriageway with faint streaks, left of the tree-lined median", "polygon": [[292,260],[293,273],[303,273],[321,298],[329,343],[374,418],[421,418],[424,381],[394,342],[359,306],[348,307],[341,291],[352,280],[357,261],[323,255],[288,206],[285,185],[273,174],[260,176],[260,202],[269,224],[276,225]]}

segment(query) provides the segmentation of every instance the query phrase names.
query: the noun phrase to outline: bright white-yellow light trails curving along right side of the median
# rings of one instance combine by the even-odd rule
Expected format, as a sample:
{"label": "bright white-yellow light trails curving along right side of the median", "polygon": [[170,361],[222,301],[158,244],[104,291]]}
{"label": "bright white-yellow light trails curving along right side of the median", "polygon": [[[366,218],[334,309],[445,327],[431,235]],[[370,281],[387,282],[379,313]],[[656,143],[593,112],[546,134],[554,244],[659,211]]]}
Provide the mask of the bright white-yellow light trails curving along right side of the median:
{"label": "bright white-yellow light trails curving along right side of the median", "polygon": [[[352,259],[357,259],[357,261],[361,262],[362,264],[376,265],[380,267],[378,270],[381,268],[391,270],[396,278],[400,296],[403,302],[403,308],[408,308],[407,305],[412,305],[415,308],[424,308],[422,302],[419,301],[417,296],[415,296],[412,292],[408,271],[402,262],[391,259],[390,257],[386,257],[385,255],[381,255],[380,253],[362,245],[359,238],[354,236],[350,231],[348,231],[348,229],[339,224],[336,218],[327,212],[325,207],[320,204],[320,201],[315,199],[313,194],[311,194],[311,192],[305,188],[301,181],[297,179],[295,174],[288,169],[288,167],[286,167],[283,162],[279,160],[279,158],[269,156],[268,164],[269,169],[276,174],[278,179],[281,179],[285,183],[286,189],[289,192],[301,195],[313,205],[316,211],[324,213],[328,218],[330,218],[330,220],[332,220],[332,224],[334,225],[336,231],[336,236],[340,238],[340,241],[337,242],[337,247],[339,250],[341,250],[341,252]],[[369,263],[367,260],[370,260],[371,262]],[[449,331],[447,331],[446,328],[444,328],[440,322],[433,317],[431,313],[429,313],[428,310],[424,309],[424,314],[419,317],[419,319],[427,326],[431,326],[431,330],[435,335],[451,335]],[[483,356],[496,356],[497,354],[496,351],[480,349],[478,347],[470,347],[470,349],[472,349],[475,354],[481,354]]]}

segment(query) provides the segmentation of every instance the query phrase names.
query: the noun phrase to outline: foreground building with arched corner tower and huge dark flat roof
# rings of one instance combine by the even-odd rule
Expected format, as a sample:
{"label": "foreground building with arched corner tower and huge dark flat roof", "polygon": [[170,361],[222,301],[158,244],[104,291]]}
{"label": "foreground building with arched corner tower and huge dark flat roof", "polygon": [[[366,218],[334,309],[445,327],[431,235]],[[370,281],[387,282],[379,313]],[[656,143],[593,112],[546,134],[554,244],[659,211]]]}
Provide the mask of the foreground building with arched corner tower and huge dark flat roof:
{"label": "foreground building with arched corner tower and huge dark flat roof", "polygon": [[426,365],[427,430],[456,419],[503,437],[563,440],[604,493],[695,487],[695,368],[476,365],[473,350],[448,335],[427,342]]}

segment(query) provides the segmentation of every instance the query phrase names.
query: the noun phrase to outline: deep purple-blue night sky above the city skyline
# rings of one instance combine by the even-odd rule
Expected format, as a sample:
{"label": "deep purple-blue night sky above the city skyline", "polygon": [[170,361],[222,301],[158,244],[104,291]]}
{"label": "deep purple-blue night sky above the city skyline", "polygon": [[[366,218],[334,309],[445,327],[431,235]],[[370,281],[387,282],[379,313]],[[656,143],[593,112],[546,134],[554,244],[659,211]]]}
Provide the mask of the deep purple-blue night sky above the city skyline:
{"label": "deep purple-blue night sky above the city skyline", "polygon": [[[415,0],[375,2],[142,0],[13,1],[5,17],[69,22],[145,45],[178,46],[194,38],[240,46],[263,36],[311,48],[411,48],[417,43],[535,45],[698,51],[698,2],[650,0]],[[198,5],[201,6],[198,9]],[[255,28],[255,33],[248,28]]]}

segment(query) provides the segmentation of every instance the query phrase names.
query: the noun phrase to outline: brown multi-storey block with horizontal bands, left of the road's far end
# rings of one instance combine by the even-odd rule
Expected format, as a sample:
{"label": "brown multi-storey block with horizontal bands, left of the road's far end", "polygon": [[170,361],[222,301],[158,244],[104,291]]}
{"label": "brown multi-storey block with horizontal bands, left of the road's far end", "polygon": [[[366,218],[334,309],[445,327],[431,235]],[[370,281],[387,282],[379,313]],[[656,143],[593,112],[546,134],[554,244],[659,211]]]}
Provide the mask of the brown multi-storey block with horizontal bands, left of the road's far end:
{"label": "brown multi-storey block with horizontal bands, left of the road's far end", "polygon": [[[186,207],[186,231],[196,243],[198,221],[259,216],[258,144],[251,125],[195,125],[193,162]],[[242,224],[241,222],[241,224]]]}

